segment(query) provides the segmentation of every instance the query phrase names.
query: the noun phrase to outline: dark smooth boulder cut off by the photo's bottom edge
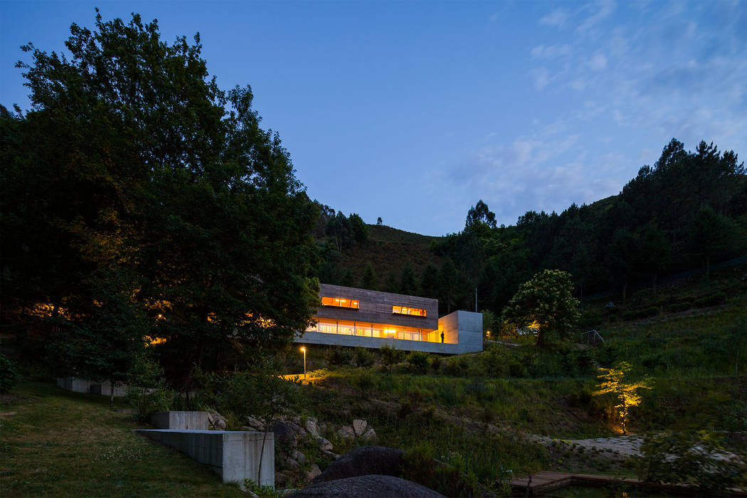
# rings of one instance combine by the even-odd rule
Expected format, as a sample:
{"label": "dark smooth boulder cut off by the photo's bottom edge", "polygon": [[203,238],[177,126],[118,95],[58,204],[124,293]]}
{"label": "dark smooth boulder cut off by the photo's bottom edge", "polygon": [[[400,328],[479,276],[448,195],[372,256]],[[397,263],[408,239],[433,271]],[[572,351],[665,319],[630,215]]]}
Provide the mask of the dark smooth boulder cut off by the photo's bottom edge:
{"label": "dark smooth boulder cut off by the photo's bottom edge", "polygon": [[394,476],[357,476],[317,482],[286,494],[288,498],[444,498],[425,486]]}

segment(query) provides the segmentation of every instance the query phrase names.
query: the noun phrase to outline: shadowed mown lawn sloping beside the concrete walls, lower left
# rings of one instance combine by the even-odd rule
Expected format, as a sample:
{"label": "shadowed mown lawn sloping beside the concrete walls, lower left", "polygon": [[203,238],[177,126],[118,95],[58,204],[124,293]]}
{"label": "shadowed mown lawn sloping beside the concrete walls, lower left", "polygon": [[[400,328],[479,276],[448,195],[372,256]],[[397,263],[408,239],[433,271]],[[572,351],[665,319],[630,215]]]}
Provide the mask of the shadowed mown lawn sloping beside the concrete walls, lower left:
{"label": "shadowed mown lawn sloping beside the concrete walls, lower left", "polygon": [[[21,383],[0,403],[3,497],[244,496],[195,461],[132,432],[123,400]],[[7,396],[6,396],[7,397]]]}

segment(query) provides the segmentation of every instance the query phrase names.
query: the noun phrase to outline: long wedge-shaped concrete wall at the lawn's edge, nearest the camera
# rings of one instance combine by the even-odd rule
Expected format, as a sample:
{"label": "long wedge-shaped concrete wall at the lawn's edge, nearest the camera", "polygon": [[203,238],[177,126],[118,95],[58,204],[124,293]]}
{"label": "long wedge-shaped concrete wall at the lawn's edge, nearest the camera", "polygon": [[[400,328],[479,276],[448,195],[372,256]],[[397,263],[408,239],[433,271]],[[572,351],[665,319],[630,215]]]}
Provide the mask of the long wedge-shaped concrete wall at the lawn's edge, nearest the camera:
{"label": "long wedge-shaped concrete wall at the lawn's edge, nearest the camera", "polygon": [[261,432],[196,431],[173,429],[136,429],[164,446],[189,455],[206,464],[223,482],[257,482],[259,460],[262,460],[260,485],[275,486],[275,438],[267,433],[262,449]]}

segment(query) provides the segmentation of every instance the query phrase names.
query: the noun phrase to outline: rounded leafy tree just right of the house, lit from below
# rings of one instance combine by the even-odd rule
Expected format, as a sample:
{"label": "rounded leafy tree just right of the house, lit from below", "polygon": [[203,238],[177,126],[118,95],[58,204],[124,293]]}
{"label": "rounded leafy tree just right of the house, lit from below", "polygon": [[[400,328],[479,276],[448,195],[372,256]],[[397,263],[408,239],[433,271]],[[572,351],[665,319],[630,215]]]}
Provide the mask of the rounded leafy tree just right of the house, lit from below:
{"label": "rounded leafy tree just right of the house, lit from below", "polygon": [[561,336],[571,331],[579,317],[579,302],[572,296],[571,275],[560,270],[543,270],[519,286],[503,308],[503,320],[519,326],[535,325],[537,345],[549,332]]}

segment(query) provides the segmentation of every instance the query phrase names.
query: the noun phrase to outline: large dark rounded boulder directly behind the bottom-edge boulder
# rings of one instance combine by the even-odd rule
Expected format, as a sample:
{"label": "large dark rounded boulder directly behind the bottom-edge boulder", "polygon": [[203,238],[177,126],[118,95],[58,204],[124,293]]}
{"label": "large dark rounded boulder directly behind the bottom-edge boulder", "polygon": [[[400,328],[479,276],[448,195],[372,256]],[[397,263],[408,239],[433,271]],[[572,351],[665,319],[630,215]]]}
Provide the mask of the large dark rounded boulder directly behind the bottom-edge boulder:
{"label": "large dark rounded boulder directly behind the bottom-edge boulder", "polygon": [[314,479],[314,482],[368,476],[369,474],[401,476],[404,454],[405,452],[396,448],[361,446],[347,452],[338,461],[332,462],[319,477]]}

